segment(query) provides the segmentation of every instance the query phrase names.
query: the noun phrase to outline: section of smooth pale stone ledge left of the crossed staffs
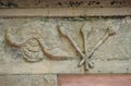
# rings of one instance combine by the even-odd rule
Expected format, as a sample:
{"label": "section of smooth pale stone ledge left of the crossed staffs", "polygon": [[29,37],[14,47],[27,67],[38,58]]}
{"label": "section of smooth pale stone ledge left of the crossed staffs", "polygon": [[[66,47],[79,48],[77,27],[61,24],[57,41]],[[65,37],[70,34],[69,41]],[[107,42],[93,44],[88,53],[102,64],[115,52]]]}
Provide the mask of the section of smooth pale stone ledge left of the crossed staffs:
{"label": "section of smooth pale stone ledge left of the crossed staffs", "polygon": [[84,69],[78,67],[79,61],[41,61],[25,63],[21,61],[0,62],[0,74],[57,74],[57,73],[84,73]]}

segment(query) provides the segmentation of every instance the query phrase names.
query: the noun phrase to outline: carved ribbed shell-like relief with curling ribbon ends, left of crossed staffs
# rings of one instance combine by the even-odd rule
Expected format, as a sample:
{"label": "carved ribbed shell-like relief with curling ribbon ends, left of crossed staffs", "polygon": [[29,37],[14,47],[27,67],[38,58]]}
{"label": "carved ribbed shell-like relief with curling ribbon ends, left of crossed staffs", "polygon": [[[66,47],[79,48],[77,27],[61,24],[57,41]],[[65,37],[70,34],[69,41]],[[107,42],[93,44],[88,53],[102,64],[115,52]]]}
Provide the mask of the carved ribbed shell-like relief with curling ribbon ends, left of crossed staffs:
{"label": "carved ribbed shell-like relief with curling ribbon ends, left of crossed staffs", "polygon": [[[43,45],[43,36],[39,33],[40,30],[22,30],[23,34],[20,37],[13,36],[10,34],[10,28],[5,30],[5,40],[11,47],[19,48],[23,54],[23,59],[27,62],[37,62],[44,59],[44,56],[47,56],[51,60],[62,60],[64,57],[52,56],[49,53]],[[25,34],[27,32],[27,34]],[[24,36],[28,35],[28,36]],[[13,37],[12,37],[13,36]],[[14,38],[14,39],[13,39]],[[15,40],[16,39],[16,40]]]}

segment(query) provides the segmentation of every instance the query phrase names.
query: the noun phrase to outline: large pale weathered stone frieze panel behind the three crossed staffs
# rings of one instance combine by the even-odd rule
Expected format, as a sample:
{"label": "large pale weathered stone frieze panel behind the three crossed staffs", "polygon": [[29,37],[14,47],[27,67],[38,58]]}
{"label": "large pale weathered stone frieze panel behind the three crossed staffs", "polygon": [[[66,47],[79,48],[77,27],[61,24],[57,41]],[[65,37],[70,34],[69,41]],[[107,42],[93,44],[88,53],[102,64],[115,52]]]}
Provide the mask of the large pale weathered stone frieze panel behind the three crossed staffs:
{"label": "large pale weathered stone frieze panel behind the three crossed staffs", "polygon": [[90,54],[108,29],[116,35],[95,50],[86,73],[131,73],[130,27],[130,16],[0,19],[0,74],[83,74],[76,48]]}

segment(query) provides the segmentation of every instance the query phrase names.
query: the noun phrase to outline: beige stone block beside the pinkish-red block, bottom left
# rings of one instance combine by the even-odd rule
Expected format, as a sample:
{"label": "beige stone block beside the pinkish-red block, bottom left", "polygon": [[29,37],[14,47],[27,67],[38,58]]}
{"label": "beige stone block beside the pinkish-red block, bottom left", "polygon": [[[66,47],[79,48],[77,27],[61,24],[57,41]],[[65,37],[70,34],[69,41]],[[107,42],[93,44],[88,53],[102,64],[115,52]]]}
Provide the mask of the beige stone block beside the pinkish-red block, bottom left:
{"label": "beige stone block beside the pinkish-red block, bottom left", "polygon": [[57,86],[57,75],[0,75],[0,86]]}

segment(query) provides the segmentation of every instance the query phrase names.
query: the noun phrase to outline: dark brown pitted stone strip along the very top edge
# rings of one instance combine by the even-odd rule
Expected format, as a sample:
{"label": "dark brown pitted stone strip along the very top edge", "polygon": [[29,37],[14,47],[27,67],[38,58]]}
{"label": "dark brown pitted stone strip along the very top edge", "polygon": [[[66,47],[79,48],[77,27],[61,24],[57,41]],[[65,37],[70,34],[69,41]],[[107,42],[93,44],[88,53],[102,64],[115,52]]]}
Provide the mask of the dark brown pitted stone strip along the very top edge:
{"label": "dark brown pitted stone strip along the very top edge", "polygon": [[0,0],[0,8],[131,7],[130,0]]}

